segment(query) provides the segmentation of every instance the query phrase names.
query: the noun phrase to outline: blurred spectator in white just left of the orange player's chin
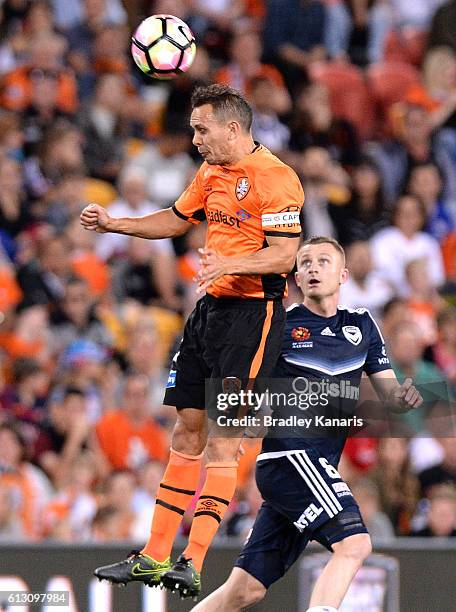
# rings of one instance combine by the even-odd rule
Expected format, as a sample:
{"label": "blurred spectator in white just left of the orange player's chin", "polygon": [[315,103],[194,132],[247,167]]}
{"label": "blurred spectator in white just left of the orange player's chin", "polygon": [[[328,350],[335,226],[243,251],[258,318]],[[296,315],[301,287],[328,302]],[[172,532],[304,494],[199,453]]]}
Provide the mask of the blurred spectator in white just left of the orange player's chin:
{"label": "blurred spectator in white just left of the orange player's chin", "polygon": [[162,208],[171,206],[193,178],[195,166],[188,154],[190,136],[183,125],[170,126],[154,143],[148,143],[128,163],[147,175],[147,192]]}

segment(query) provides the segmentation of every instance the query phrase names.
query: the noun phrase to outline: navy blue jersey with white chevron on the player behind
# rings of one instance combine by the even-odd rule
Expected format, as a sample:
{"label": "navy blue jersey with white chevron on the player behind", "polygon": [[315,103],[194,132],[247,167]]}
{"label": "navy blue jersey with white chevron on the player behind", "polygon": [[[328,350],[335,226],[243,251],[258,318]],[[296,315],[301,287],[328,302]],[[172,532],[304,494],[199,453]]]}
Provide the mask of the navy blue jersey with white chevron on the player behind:
{"label": "navy blue jersey with white chevron on the player behind", "polygon": [[[314,314],[303,304],[288,309],[282,351],[273,378],[303,377],[316,381],[320,390],[330,390],[333,415],[340,417],[354,412],[363,372],[370,375],[390,368],[383,337],[365,308],[339,306],[332,317]],[[286,418],[290,414],[290,406],[273,405],[272,408],[274,417]],[[322,412],[322,405],[313,405],[301,412],[301,416],[317,416],[319,410]],[[306,435],[299,426],[287,428],[286,437],[277,431],[271,428],[263,440],[262,453],[268,453],[270,458],[288,450],[313,449],[334,466],[339,462],[348,434],[348,429],[343,429],[337,435],[320,438],[315,433]]]}

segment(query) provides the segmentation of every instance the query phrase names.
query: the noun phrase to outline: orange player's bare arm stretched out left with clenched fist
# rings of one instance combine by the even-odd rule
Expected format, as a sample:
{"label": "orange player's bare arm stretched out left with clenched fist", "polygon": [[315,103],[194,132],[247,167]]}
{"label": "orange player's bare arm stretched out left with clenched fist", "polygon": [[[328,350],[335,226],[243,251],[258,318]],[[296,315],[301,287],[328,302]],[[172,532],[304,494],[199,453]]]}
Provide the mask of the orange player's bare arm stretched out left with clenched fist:
{"label": "orange player's bare arm stretched out left with clenched fist", "polygon": [[92,232],[112,232],[149,239],[180,236],[191,227],[191,224],[178,217],[172,208],[157,210],[145,217],[115,219],[103,206],[89,204],[82,211],[80,218],[82,226]]}

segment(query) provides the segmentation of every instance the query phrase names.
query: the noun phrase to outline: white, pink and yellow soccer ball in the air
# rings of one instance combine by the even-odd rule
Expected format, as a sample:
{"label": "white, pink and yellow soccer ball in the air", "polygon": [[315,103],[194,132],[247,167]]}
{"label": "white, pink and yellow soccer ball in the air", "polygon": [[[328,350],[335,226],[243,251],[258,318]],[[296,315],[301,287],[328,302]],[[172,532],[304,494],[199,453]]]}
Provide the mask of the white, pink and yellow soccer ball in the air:
{"label": "white, pink and yellow soccer ball in the air", "polygon": [[188,25],[173,15],[152,15],[142,21],[132,37],[136,65],[156,79],[172,79],[186,72],[196,54]]}

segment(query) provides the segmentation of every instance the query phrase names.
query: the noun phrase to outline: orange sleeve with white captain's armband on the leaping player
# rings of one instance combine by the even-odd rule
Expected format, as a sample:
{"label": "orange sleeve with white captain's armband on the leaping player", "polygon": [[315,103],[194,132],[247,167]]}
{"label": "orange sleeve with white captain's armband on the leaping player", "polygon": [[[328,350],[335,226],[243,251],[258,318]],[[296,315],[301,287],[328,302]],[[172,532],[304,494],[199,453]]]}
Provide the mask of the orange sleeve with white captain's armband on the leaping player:
{"label": "orange sleeve with white captain's armband on the leaping player", "polygon": [[297,174],[288,166],[268,170],[261,176],[257,191],[265,236],[299,236],[304,191]]}

